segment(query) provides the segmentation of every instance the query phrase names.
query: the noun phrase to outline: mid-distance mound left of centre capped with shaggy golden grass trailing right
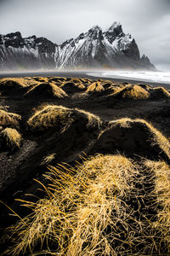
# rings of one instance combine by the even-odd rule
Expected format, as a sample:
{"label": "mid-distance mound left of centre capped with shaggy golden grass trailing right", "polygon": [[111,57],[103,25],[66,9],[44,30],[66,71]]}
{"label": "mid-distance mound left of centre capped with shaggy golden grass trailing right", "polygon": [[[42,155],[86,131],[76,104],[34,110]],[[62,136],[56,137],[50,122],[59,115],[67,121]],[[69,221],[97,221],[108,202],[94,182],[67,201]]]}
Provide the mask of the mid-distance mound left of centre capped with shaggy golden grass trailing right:
{"label": "mid-distance mound left of centre capped with shaggy golden grass trailing right", "polygon": [[49,128],[65,131],[75,122],[80,122],[88,129],[99,128],[99,117],[77,108],[65,108],[57,105],[45,105],[36,110],[28,120],[32,131],[45,131]]}

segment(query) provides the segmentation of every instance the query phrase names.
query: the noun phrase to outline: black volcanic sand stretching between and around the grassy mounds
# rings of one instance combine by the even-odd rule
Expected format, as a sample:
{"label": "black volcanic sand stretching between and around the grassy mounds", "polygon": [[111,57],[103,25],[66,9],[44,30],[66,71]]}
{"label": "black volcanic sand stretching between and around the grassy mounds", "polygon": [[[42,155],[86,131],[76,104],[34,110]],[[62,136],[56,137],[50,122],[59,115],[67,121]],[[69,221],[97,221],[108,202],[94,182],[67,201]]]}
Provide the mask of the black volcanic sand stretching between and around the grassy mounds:
{"label": "black volcanic sand stretching between and around the grassy mounds", "polygon": [[[30,77],[32,77],[31,75]],[[76,77],[72,74],[72,78]],[[156,129],[161,131],[166,137],[170,137],[170,105],[168,91],[164,94],[162,90],[156,94],[152,87],[153,84],[138,83],[139,87],[150,94],[149,98],[132,99],[128,97],[116,97],[116,88],[128,86],[129,81],[120,81],[117,79],[89,79],[88,76],[79,75],[77,81],[71,78],[61,79],[48,77],[48,79],[33,79],[28,87],[20,87],[14,93],[13,83],[8,85],[8,90],[1,88],[0,80],[0,105],[1,109],[9,113],[20,114],[21,120],[16,128],[20,131],[23,138],[20,148],[8,150],[0,140],[0,200],[14,212],[25,216],[29,211],[27,208],[19,207],[20,203],[16,198],[30,199],[26,194],[34,194],[39,197],[43,195],[40,184],[34,181],[34,178],[42,183],[47,183],[42,174],[47,171],[48,164],[42,164],[42,160],[48,154],[54,154],[54,160],[50,165],[55,166],[60,162],[66,162],[70,165],[75,164],[79,155],[85,152],[88,155],[116,154],[120,152],[133,159],[144,157],[150,160],[166,160],[169,163],[168,156],[161,152],[158,146],[152,146],[150,141],[150,131],[139,122],[134,123],[132,128],[112,127],[109,122],[128,118],[144,119],[150,122]],[[31,90],[31,96],[28,96],[29,90],[35,84],[42,83],[41,92]],[[65,94],[53,96],[50,86],[47,91],[44,89],[44,83],[54,83],[57,87],[64,90]],[[69,89],[67,90],[67,83]],[[71,93],[71,83],[75,86]],[[93,83],[103,84],[104,90],[88,91],[88,86]],[[33,84],[33,85],[32,85]],[[84,88],[78,88],[78,84],[83,84]],[[133,81],[133,84],[135,82]],[[156,84],[155,84],[156,85]],[[31,87],[32,86],[32,87]],[[38,85],[37,85],[38,86]],[[50,89],[50,93],[48,91]],[[13,91],[13,94],[10,93]],[[18,91],[20,90],[20,91]],[[40,96],[37,96],[37,91]],[[69,91],[69,93],[68,93]],[[161,91],[161,93],[160,93]],[[144,93],[145,93],[144,92]],[[68,94],[67,94],[68,93]],[[157,96],[156,96],[157,95]],[[27,120],[34,113],[34,109],[40,105],[61,105],[63,107],[74,109],[79,108],[90,113],[94,113],[100,118],[96,125],[88,125],[86,113],[71,113],[73,122],[64,132],[61,132],[58,126],[49,127],[44,131],[34,131],[27,124]],[[10,126],[10,125],[9,125]],[[0,125],[1,131],[8,125]],[[101,135],[102,132],[102,135]],[[36,199],[35,199],[36,200]],[[1,228],[14,224],[16,217],[8,216],[11,213],[7,207],[1,206]]]}

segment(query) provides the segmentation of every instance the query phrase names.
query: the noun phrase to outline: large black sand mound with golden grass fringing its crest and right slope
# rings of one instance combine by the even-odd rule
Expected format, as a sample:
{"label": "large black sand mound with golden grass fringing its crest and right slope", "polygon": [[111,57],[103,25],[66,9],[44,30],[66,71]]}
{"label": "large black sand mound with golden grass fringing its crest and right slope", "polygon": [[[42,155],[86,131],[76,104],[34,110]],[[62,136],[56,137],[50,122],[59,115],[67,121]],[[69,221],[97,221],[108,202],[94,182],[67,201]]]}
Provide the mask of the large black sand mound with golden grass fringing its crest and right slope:
{"label": "large black sand mound with golden grass fringing its crest and right slope", "polygon": [[115,154],[117,151],[133,156],[170,159],[170,143],[153,125],[144,119],[116,119],[110,122],[94,144],[95,152]]}

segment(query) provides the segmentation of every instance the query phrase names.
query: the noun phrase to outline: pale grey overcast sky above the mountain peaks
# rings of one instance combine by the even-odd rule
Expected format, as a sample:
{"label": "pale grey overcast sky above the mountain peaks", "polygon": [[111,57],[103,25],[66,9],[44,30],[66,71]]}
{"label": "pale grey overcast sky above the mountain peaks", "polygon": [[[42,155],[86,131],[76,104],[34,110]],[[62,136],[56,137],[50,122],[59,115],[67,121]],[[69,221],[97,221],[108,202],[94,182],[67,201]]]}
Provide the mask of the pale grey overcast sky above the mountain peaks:
{"label": "pale grey overcast sky above the mountain peaks", "polygon": [[0,0],[0,34],[20,31],[56,44],[120,21],[141,55],[170,72],[170,0]]}

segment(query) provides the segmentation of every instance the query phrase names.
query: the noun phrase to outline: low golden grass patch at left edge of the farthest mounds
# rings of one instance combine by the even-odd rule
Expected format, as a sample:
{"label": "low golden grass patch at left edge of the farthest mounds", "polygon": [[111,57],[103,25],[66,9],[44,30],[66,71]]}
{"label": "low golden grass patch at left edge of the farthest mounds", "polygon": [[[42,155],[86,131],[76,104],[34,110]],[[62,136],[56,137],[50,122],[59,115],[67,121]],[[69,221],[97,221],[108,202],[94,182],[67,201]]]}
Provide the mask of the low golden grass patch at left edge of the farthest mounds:
{"label": "low golden grass patch at left edge of the farthest mounds", "polygon": [[25,88],[32,84],[35,84],[33,79],[26,79],[26,78],[7,78],[7,79],[0,79],[0,86],[7,85],[7,86],[14,86],[17,85],[19,88]]}

